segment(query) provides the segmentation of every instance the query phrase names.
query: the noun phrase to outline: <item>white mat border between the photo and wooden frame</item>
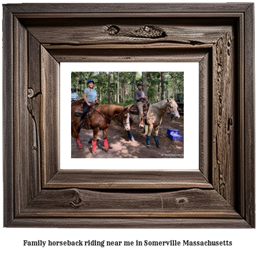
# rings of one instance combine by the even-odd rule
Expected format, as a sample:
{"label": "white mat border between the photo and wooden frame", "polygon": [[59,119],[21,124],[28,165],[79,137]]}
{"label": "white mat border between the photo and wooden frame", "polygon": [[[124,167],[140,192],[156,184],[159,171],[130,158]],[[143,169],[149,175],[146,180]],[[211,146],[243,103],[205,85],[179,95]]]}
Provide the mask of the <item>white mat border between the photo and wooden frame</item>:
{"label": "white mat border between the photo and wooden frame", "polygon": [[[119,158],[125,168],[199,169],[199,64],[198,62],[61,62],[60,64],[60,168],[120,169],[117,158],[71,158],[71,72],[184,72],[184,157]],[[198,116],[198,117],[196,117]],[[170,125],[170,127],[172,127]],[[91,131],[92,130],[87,130]],[[167,129],[166,129],[167,131]],[[153,137],[152,137],[153,138]],[[170,140],[170,142],[173,142]],[[146,143],[146,137],[145,137]],[[111,143],[109,143],[111,146]],[[85,147],[90,145],[84,143]],[[153,148],[153,146],[152,146]],[[114,150],[112,150],[114,152]]]}

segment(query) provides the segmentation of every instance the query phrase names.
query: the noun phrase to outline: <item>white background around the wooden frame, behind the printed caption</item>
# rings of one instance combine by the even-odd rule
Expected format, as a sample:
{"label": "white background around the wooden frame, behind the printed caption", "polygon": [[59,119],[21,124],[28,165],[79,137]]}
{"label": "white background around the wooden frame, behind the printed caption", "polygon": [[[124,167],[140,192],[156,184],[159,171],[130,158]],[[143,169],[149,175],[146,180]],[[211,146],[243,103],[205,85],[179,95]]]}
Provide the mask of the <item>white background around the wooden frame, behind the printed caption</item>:
{"label": "white background around the wooden frame, behind the printed caption", "polygon": [[[22,1],[5,0],[2,3],[20,3]],[[25,1],[25,2],[38,2],[38,1]],[[49,2],[49,1],[39,1]],[[66,2],[64,0],[55,0],[54,2]],[[69,1],[72,2],[72,1]],[[86,2],[86,1],[76,1]],[[94,1],[103,2],[103,1]],[[108,1],[108,2],[121,2],[121,1]],[[124,1],[135,2],[135,1]],[[140,0],[139,2],[157,2],[150,0]],[[161,2],[207,2],[206,0],[196,1],[165,1]],[[226,2],[221,0],[211,0],[210,2]],[[232,1],[234,2],[234,1]],[[240,1],[242,2],[242,1]],[[2,11],[0,12],[2,15]],[[2,26],[1,26],[2,27]],[[2,43],[2,40],[0,40]],[[2,55],[1,55],[2,57]],[[2,60],[1,60],[2,62]],[[0,68],[2,73],[2,68]],[[2,96],[0,96],[2,99]],[[0,101],[0,113],[2,113],[2,101]],[[2,131],[2,121],[0,122],[0,128]],[[2,134],[0,135],[0,141],[2,142]],[[0,164],[2,165],[2,152],[0,152]],[[1,166],[2,167],[2,166]],[[0,178],[0,189],[2,192],[2,173]],[[2,226],[2,193],[0,194],[0,226]],[[0,250],[1,252],[196,252],[196,253],[227,253],[227,252],[254,252],[256,232],[255,229],[36,229],[36,228],[0,228]],[[24,247],[23,240],[229,240],[233,245],[229,247]]]}

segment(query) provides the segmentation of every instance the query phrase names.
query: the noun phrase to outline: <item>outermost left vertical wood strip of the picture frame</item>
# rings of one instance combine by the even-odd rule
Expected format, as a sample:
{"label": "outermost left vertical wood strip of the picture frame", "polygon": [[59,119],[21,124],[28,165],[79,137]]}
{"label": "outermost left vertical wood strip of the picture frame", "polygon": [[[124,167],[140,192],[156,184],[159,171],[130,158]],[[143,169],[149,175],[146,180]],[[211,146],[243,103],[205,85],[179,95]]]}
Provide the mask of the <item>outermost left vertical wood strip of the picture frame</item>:
{"label": "outermost left vertical wood strip of the picture frame", "polygon": [[[3,177],[5,178],[5,191],[3,191],[3,222],[9,224],[13,220],[14,212],[14,152],[13,152],[13,14],[3,8]],[[8,118],[8,120],[6,120]]]}

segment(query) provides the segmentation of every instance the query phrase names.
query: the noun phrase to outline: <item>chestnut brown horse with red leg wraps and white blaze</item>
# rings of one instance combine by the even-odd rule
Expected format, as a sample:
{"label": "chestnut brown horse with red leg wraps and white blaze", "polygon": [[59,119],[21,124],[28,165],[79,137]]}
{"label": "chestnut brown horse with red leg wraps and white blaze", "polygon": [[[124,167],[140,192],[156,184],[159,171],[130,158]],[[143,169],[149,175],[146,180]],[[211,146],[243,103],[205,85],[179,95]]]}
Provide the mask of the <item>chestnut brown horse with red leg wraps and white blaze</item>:
{"label": "chestnut brown horse with red leg wraps and white blaze", "polygon": [[[79,136],[80,128],[77,126],[80,122],[80,117],[76,116],[75,110],[80,105],[77,103],[71,107],[71,136],[76,138],[76,143],[79,149],[83,148]],[[93,129],[92,139],[92,154],[96,152],[97,136],[99,130],[103,131],[103,144],[106,152],[109,150],[109,143],[107,142],[107,131],[109,131],[110,122],[117,117],[117,120],[124,126],[125,130],[130,130],[129,125],[129,110],[127,107],[118,105],[98,105],[90,117],[90,126]],[[88,118],[88,116],[87,116]],[[84,128],[88,126],[84,124]]]}

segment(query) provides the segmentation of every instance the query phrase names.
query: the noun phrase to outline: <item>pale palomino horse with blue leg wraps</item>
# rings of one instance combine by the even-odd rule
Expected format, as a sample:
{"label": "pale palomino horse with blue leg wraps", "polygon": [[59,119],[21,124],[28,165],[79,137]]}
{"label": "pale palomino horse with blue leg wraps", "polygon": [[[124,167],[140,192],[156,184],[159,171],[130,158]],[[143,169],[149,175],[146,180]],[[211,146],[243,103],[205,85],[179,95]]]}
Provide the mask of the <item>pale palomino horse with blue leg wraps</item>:
{"label": "pale palomino horse with blue leg wraps", "polygon": [[[128,108],[130,108],[132,105],[128,105]],[[150,136],[151,132],[154,128],[154,139],[155,139],[155,144],[157,144],[157,147],[159,147],[159,141],[158,141],[158,131],[159,127],[162,122],[162,117],[166,113],[166,111],[170,111],[173,117],[176,119],[180,118],[180,114],[178,111],[178,106],[177,103],[175,102],[174,99],[164,99],[158,103],[153,103],[153,105],[149,106],[149,110],[147,111],[147,116],[146,116],[146,122],[148,127],[148,132],[147,132],[147,147],[150,147]],[[132,126],[133,121],[139,121],[139,116],[130,113],[130,126]],[[131,131],[127,131],[129,139],[134,140],[134,137],[132,135]]]}

